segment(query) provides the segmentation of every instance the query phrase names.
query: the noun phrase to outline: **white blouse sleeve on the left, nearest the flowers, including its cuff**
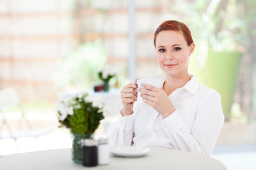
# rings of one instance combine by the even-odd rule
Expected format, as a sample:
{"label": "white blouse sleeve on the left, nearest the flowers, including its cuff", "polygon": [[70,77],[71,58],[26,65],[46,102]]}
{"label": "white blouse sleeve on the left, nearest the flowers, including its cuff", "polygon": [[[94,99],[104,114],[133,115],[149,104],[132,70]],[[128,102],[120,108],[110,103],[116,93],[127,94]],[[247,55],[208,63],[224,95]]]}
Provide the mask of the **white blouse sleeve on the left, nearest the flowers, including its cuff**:
{"label": "white blouse sleeve on the left, nearest the flowers, including its cuff", "polygon": [[131,146],[134,137],[134,113],[131,115],[118,115],[118,121],[111,123],[108,129],[110,146]]}

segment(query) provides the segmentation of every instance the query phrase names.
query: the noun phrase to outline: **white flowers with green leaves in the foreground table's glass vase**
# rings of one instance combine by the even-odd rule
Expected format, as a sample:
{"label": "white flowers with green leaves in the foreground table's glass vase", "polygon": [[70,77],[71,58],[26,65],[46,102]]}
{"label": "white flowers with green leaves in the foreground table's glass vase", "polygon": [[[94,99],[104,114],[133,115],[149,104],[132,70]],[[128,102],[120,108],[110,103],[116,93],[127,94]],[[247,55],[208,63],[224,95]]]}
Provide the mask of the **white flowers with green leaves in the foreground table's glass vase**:
{"label": "white flowers with green leaves in the foreground table's glass vase", "polygon": [[97,98],[86,93],[66,96],[58,105],[60,127],[69,128],[73,134],[92,134],[100,125],[107,108]]}

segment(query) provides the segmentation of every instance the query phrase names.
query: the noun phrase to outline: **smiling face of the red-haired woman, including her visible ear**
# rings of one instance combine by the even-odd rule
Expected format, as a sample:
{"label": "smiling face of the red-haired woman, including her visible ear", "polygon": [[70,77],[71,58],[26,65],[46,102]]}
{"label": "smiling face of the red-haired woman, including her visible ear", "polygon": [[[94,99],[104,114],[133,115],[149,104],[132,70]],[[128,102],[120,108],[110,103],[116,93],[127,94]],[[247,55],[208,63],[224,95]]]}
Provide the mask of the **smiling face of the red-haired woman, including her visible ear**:
{"label": "smiling face of the red-haired woman, including her visible ear", "polygon": [[156,37],[156,57],[167,76],[188,74],[188,58],[194,48],[194,43],[188,46],[183,34],[177,31],[164,30]]}

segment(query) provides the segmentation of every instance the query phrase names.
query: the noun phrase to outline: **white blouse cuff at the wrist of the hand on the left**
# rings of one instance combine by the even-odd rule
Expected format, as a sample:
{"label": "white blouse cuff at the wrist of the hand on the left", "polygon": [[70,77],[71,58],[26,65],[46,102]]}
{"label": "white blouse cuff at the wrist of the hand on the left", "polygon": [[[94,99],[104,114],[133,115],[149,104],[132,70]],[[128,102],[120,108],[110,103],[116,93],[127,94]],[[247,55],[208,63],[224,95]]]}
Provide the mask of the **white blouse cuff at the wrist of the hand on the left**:
{"label": "white blouse cuff at the wrist of the hand on the left", "polygon": [[131,115],[122,116],[122,111],[119,111],[118,115],[118,128],[121,131],[132,130],[133,127],[133,113]]}

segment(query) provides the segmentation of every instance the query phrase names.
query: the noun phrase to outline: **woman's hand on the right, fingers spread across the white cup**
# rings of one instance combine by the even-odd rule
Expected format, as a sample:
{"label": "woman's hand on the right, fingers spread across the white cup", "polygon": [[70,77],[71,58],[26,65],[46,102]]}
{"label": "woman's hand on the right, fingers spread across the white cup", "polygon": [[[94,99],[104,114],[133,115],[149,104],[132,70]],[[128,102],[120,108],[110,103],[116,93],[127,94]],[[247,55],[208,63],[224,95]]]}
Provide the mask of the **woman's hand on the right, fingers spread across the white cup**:
{"label": "woman's hand on the right, fingers spread across the white cup", "polygon": [[142,93],[140,96],[143,98],[143,101],[163,115],[163,118],[167,118],[176,111],[176,108],[174,108],[170,98],[163,89],[151,86],[150,84],[141,84],[141,86],[146,88],[137,88],[137,91]]}

